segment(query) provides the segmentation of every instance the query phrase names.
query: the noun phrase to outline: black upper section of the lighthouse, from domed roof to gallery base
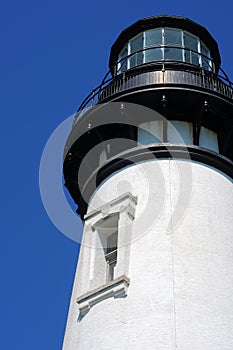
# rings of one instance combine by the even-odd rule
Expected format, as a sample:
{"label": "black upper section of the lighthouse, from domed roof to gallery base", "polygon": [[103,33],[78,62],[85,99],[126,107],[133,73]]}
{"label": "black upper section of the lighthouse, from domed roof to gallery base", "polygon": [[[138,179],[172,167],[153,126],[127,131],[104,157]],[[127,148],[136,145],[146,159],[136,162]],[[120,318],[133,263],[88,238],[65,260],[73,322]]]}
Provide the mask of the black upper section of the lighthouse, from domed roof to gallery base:
{"label": "black upper section of the lighthouse, from domed roof to gallery base", "polygon": [[[155,35],[161,36],[160,41],[147,46],[146,40],[155,42]],[[167,38],[173,37],[174,43],[169,42]],[[137,40],[142,45],[135,49]],[[233,177],[233,90],[220,65],[216,41],[204,27],[187,18],[145,18],[119,35],[111,49],[109,72],[80,106],[65,148],[65,185],[82,218],[96,186],[113,172],[151,155],[190,157]],[[171,143],[165,133],[162,142],[135,146],[138,128],[130,104],[148,107],[171,122],[189,123],[192,142]],[[137,115],[136,120],[139,127],[147,117]],[[216,134],[217,151],[200,144],[202,128]],[[87,164],[85,178],[80,178],[86,154],[114,138],[129,142],[114,153],[106,150],[105,162],[100,164],[96,159]]]}

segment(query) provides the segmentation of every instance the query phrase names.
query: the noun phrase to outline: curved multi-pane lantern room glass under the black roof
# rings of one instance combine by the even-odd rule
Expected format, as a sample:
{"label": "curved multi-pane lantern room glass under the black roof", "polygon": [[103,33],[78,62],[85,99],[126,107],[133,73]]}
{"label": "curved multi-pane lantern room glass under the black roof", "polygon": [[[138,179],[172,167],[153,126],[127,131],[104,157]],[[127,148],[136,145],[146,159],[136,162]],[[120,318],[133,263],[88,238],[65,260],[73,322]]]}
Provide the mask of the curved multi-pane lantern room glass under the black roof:
{"label": "curved multi-pane lantern room glass under the black roof", "polygon": [[155,28],[128,41],[118,56],[117,74],[154,61],[179,61],[211,71],[210,50],[199,37],[177,28]]}

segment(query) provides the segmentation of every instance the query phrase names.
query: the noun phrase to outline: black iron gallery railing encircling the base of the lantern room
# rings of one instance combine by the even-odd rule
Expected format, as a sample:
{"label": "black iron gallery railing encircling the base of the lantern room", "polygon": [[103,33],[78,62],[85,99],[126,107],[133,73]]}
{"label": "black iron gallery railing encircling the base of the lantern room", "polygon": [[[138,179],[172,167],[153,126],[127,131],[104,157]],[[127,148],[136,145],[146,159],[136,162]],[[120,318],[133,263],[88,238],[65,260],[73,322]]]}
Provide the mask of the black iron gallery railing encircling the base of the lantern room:
{"label": "black iron gallery railing encircling the base of the lantern room", "polygon": [[[182,48],[182,50],[184,50],[184,48]],[[134,54],[125,57],[123,60],[128,60],[130,57],[141,51],[135,52]],[[192,50],[189,51],[190,55],[201,55],[198,52]],[[208,58],[204,55],[201,56],[206,59]],[[233,98],[233,84],[221,68],[217,74],[214,73],[213,70],[206,70],[187,62],[163,60],[143,63],[119,74],[119,65],[122,65],[123,60],[117,62],[104,76],[101,84],[93,89],[85,98],[78,109],[78,112],[80,112],[78,119],[82,115],[81,112],[85,112],[87,108],[93,107],[99,102],[104,102],[123,91],[136,89],[141,86],[146,87],[159,84],[192,85],[212,90],[231,99]],[[208,60],[210,61],[209,58]],[[211,66],[213,68],[213,63],[211,63]],[[112,76],[112,74],[115,75]]]}

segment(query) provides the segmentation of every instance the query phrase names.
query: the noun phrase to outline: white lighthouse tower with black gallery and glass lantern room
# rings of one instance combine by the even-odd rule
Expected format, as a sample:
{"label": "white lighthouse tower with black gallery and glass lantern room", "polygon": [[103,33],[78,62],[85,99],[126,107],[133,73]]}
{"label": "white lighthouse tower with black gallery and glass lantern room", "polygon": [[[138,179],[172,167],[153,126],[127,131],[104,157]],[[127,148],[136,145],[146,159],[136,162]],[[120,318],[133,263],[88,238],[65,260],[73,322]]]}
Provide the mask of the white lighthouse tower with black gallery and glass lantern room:
{"label": "white lighthouse tower with black gallery and glass lantern room", "polygon": [[65,147],[84,227],[64,350],[233,349],[232,98],[192,20],[116,39]]}

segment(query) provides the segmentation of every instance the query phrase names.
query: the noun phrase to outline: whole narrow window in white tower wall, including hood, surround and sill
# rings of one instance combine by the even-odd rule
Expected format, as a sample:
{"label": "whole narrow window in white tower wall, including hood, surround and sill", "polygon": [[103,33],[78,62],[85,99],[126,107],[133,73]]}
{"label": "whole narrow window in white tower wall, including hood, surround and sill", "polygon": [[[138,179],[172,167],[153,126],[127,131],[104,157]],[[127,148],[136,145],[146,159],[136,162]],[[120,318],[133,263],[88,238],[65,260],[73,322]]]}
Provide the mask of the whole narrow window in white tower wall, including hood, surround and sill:
{"label": "whole narrow window in white tower wall, including hood, surround and sill", "polygon": [[77,303],[80,317],[104,299],[127,296],[137,198],[127,192],[85,216]]}

